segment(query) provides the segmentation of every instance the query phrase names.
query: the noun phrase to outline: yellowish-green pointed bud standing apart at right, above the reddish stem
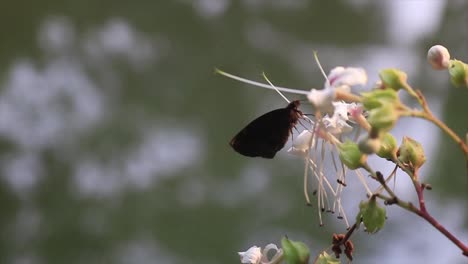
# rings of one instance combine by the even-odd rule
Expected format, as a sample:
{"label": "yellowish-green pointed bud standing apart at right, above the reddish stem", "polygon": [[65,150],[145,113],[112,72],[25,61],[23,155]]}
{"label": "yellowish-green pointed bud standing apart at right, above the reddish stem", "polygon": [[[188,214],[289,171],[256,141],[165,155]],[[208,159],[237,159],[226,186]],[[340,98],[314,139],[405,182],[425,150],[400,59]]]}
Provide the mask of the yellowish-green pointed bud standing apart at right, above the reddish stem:
{"label": "yellowish-green pointed bud standing apart at right, above the reddish stem", "polygon": [[424,155],[424,149],[421,144],[409,137],[403,137],[403,142],[398,152],[398,160],[406,169],[409,169],[413,173],[426,161],[426,155]]}

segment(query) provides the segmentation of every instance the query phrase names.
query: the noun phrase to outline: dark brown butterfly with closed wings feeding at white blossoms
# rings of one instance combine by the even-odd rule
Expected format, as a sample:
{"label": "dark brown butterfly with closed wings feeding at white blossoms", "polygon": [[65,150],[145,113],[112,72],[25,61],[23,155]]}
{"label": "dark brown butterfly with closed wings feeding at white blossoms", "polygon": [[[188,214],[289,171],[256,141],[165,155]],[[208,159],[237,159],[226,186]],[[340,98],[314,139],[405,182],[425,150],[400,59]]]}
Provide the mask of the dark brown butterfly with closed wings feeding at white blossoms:
{"label": "dark brown butterfly with closed wings feeding at white blossoms", "polygon": [[284,147],[292,128],[302,116],[297,109],[299,105],[299,101],[292,101],[285,108],[258,117],[237,133],[229,144],[244,156],[272,159]]}

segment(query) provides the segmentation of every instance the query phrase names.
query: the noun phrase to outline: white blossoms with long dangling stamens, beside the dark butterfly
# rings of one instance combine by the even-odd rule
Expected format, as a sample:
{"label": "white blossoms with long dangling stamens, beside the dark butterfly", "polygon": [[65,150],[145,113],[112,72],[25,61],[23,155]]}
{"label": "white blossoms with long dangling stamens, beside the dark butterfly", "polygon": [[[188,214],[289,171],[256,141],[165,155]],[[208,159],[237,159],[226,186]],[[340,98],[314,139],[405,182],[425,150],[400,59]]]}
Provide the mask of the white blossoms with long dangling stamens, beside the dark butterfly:
{"label": "white blossoms with long dangling stamens, beside the dark butterfly", "polygon": [[[324,88],[312,89],[308,93],[307,98],[315,107],[315,118],[311,122],[311,127],[302,131],[288,150],[290,154],[304,159],[304,195],[307,203],[310,203],[307,190],[309,171],[317,180],[320,225],[323,224],[322,211],[338,211],[338,217],[343,218],[346,226],[349,227],[346,213],[341,206],[341,192],[346,186],[346,170],[342,165],[337,165],[339,160],[336,153],[337,147],[341,144],[340,139],[353,131],[352,124],[363,115],[363,112],[359,103],[337,101],[337,97],[340,92],[350,93],[352,86],[366,83],[367,74],[362,68],[336,67],[332,69],[326,77]],[[329,179],[324,174],[327,152],[330,152],[332,163],[335,164],[336,175],[338,175],[336,179]],[[365,184],[365,181],[363,182]],[[367,185],[365,187],[368,189]],[[333,201],[330,201],[330,198],[333,198]]]}

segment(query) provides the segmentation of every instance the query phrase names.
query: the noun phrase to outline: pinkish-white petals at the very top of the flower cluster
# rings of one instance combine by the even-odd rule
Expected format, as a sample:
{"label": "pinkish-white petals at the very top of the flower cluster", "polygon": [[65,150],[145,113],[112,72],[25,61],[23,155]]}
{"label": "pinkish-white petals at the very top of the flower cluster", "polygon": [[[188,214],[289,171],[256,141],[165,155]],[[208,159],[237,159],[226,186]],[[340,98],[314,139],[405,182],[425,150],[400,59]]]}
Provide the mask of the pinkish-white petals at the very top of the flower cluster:
{"label": "pinkish-white petals at the very top of the flower cluster", "polygon": [[351,86],[365,85],[367,83],[367,74],[363,68],[353,67],[335,67],[328,74],[328,81],[325,87],[331,86],[336,89],[349,91]]}

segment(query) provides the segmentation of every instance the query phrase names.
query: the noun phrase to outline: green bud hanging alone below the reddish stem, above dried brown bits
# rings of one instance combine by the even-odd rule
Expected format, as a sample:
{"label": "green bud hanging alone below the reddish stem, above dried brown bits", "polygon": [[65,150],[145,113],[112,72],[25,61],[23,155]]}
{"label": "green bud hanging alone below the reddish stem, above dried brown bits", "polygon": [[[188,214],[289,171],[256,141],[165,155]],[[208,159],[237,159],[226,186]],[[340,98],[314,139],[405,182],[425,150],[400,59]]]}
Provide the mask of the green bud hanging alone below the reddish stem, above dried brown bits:
{"label": "green bud hanging alone below the reddish stem, above dried brown bits", "polygon": [[384,207],[379,206],[375,197],[369,201],[359,203],[359,213],[356,216],[356,222],[362,221],[369,233],[375,233],[385,225],[387,212]]}

